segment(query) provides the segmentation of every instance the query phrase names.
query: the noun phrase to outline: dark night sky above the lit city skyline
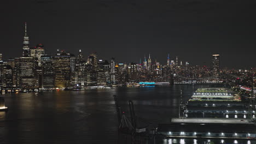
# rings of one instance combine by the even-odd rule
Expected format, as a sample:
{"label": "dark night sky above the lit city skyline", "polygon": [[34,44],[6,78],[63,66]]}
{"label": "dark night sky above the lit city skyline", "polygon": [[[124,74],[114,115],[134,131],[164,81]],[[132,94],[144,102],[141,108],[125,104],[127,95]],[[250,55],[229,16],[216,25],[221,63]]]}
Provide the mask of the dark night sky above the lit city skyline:
{"label": "dark night sky above the lit city skyline", "polygon": [[256,1],[229,0],[22,0],[1,1],[3,58],[22,55],[24,23],[30,46],[43,43],[85,57],[139,62],[144,54],[166,64],[178,56],[183,63],[255,67]]}

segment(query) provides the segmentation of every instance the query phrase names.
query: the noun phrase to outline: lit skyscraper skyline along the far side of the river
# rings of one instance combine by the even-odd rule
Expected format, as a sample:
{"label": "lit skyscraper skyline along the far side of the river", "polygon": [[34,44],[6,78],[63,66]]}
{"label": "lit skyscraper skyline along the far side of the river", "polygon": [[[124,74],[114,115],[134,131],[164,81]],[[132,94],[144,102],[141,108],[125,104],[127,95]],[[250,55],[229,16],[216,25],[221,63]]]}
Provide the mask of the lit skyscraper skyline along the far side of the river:
{"label": "lit skyscraper skyline along the far side of the river", "polygon": [[[30,47],[30,39],[25,34],[22,56],[2,60],[0,53],[0,87],[21,89],[54,89],[85,86],[126,85],[127,82],[170,81],[173,74],[181,76],[210,75],[205,67],[183,65],[178,57],[167,55],[167,64],[161,65],[156,59],[144,56],[143,62],[118,63],[115,58],[108,62],[91,53],[87,58],[79,50],[78,55],[65,50],[57,50],[54,56],[45,53],[44,45]],[[213,72],[219,71],[219,55],[213,55]]]}

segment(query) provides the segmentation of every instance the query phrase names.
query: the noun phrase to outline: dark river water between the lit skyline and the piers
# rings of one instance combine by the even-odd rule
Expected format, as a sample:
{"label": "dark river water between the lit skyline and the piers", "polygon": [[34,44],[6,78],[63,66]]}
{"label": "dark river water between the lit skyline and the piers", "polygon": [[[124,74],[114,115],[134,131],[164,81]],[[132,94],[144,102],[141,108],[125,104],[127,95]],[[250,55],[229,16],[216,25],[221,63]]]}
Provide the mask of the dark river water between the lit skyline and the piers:
{"label": "dark river water between the lit skyline and the piers", "polygon": [[[118,120],[113,95],[127,111],[133,100],[135,113],[149,122],[169,123],[178,116],[180,90],[184,101],[199,87],[88,89],[5,94],[8,112],[0,112],[0,143],[117,143]],[[207,140],[156,139],[155,143],[204,143]],[[221,140],[212,140],[220,143]],[[225,140],[226,143],[254,143]],[[149,142],[149,143],[152,143]],[[256,143],[256,142],[255,142]]]}

